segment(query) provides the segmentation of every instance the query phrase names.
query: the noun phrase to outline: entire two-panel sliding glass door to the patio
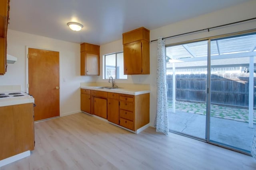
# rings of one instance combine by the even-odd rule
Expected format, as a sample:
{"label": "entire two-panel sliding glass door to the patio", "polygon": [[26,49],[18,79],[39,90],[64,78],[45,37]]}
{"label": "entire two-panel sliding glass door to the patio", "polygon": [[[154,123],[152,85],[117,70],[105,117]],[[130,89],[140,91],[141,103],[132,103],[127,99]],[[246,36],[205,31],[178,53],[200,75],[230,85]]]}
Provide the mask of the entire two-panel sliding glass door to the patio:
{"label": "entire two-panel sliding glass door to the patio", "polygon": [[250,153],[256,33],[166,47],[170,131]]}

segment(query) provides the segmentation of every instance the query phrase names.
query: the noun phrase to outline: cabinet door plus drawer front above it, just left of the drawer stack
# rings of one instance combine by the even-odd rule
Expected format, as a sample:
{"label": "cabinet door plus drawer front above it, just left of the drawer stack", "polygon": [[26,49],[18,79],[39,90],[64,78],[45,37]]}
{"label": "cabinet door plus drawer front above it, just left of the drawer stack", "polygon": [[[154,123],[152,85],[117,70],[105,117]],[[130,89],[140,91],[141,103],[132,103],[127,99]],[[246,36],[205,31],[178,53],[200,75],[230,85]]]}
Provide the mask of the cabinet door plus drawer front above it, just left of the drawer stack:
{"label": "cabinet door plus drawer front above it, just left of the drawer stack", "polygon": [[119,124],[119,94],[108,92],[108,121]]}

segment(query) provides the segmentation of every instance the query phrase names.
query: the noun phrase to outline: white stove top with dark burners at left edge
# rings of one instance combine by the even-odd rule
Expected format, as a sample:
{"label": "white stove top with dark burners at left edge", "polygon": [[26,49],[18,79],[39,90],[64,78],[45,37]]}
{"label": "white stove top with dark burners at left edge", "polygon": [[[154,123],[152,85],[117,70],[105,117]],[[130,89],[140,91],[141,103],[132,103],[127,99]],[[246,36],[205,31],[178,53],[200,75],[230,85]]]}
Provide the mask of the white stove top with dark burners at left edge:
{"label": "white stove top with dark burners at left edge", "polygon": [[33,96],[25,92],[17,91],[19,89],[15,89],[15,90],[6,89],[6,90],[8,91],[4,92],[3,89],[0,91],[0,107],[11,106],[16,104],[34,103]]}

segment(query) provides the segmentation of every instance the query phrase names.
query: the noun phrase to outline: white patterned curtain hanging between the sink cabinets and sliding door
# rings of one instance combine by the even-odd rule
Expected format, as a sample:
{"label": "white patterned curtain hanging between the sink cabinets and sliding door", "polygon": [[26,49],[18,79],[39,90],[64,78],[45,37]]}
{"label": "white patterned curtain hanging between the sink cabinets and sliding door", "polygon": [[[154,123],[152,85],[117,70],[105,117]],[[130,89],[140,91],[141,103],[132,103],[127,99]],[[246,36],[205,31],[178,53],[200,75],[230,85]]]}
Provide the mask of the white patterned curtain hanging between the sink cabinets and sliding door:
{"label": "white patterned curtain hanging between the sink cabinets and sliding door", "polygon": [[167,113],[167,90],[166,90],[166,54],[165,41],[162,37],[158,38],[157,45],[157,106],[156,119],[154,125],[157,132],[168,135],[169,123]]}

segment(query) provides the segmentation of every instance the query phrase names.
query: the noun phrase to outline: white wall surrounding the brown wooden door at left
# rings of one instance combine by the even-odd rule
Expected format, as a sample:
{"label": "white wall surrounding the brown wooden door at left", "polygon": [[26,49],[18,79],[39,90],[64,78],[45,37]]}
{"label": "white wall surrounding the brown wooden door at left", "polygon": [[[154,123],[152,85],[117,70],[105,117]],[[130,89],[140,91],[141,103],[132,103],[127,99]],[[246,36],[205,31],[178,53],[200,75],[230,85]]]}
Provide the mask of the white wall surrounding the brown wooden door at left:
{"label": "white wall surrounding the brown wooden door at left", "polygon": [[[26,91],[26,46],[60,52],[60,115],[80,111],[80,83],[97,76],[80,76],[80,44],[8,30],[8,54],[18,58],[0,76],[0,85],[21,85]],[[65,79],[65,82],[64,82]]]}

